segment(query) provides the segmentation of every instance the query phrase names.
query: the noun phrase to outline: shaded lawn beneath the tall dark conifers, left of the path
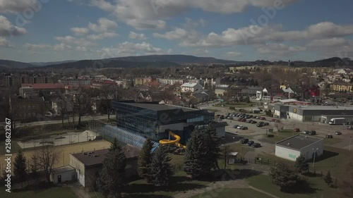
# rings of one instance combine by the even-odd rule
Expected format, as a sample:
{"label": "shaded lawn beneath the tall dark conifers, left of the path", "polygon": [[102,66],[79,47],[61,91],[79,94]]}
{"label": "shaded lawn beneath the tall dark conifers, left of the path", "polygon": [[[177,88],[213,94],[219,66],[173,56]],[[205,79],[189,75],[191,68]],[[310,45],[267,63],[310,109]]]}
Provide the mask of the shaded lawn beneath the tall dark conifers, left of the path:
{"label": "shaded lawn beneath the tall dark conifers, left of the path", "polygon": [[169,187],[155,187],[148,184],[145,180],[136,180],[131,182],[124,192],[125,197],[143,198],[143,197],[172,197],[187,190],[195,190],[206,187],[211,181],[192,180],[186,173],[179,171],[175,173],[170,181]]}

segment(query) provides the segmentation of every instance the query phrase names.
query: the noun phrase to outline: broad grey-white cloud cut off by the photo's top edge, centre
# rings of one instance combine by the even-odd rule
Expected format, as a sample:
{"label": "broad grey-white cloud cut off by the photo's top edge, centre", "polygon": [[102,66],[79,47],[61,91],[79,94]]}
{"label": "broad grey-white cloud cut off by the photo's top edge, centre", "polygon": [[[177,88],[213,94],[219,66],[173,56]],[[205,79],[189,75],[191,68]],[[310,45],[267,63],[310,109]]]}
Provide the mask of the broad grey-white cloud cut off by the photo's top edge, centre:
{"label": "broad grey-white cloud cut off by the photo's top edge, centre", "polygon": [[[113,13],[116,18],[138,29],[161,28],[164,20],[179,16],[191,8],[215,13],[239,13],[249,6],[274,6],[278,0],[91,0],[91,6]],[[283,4],[301,0],[282,0]],[[152,23],[160,20],[159,23]],[[158,25],[159,24],[159,25]],[[161,26],[162,25],[162,26]]]}

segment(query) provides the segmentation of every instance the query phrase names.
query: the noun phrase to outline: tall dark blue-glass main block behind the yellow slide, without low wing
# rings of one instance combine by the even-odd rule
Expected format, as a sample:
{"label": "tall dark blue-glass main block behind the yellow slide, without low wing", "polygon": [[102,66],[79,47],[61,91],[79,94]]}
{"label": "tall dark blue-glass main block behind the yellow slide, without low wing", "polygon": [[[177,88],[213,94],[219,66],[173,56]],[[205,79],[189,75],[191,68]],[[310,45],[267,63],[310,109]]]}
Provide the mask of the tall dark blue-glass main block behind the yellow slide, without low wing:
{"label": "tall dark blue-glass main block behind the yellow slide, without low wing", "polygon": [[[116,110],[116,126],[152,140],[168,138],[173,131],[187,140],[195,125],[215,119],[215,113],[167,104],[113,101]],[[184,142],[184,141],[183,141]]]}

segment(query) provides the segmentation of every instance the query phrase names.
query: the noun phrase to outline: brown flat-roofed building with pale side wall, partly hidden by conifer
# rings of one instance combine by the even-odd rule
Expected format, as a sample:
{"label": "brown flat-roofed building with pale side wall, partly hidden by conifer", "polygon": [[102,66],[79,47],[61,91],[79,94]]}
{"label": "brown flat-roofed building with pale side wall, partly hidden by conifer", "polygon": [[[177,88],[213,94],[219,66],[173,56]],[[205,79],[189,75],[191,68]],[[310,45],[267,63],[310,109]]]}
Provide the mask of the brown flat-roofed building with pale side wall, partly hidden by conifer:
{"label": "brown flat-roofed building with pale side wall, partly hidden by conifer", "polygon": [[[140,149],[126,145],[123,147],[126,156],[126,177],[137,175],[137,158]],[[103,161],[109,149],[88,151],[78,154],[70,154],[70,166],[76,169],[76,178],[87,190],[96,189],[96,180],[99,171],[102,170]]]}

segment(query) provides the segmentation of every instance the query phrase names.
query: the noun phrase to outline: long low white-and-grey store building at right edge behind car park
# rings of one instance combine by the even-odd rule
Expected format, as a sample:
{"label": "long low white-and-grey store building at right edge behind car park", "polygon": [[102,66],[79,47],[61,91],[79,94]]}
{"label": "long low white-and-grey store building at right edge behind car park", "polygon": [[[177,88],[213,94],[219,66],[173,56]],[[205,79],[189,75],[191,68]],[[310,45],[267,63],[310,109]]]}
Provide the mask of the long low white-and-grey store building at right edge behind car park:
{"label": "long low white-and-grey store building at right edge behind car park", "polygon": [[352,106],[298,106],[275,104],[275,118],[285,118],[302,122],[328,123],[331,118],[346,118],[347,122],[353,120]]}

